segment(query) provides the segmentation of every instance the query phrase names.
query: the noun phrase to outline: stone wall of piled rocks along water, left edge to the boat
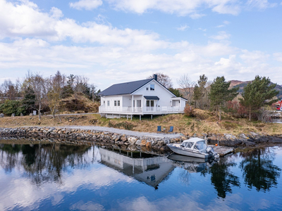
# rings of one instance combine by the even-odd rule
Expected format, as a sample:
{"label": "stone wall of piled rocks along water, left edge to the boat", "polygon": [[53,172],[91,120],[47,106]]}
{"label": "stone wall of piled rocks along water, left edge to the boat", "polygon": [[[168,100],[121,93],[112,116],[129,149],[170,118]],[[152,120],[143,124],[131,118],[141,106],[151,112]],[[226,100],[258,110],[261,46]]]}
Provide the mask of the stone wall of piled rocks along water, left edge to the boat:
{"label": "stone wall of piled rocks along water, left edge to the boat", "polygon": [[187,139],[182,136],[179,139],[160,139],[149,136],[126,136],[111,132],[101,132],[97,130],[68,129],[56,127],[18,127],[0,129],[0,137],[25,137],[42,138],[50,141],[56,140],[62,143],[102,143],[102,145],[116,145],[118,148],[131,151],[147,148],[155,151],[169,151],[166,143],[180,143]]}

